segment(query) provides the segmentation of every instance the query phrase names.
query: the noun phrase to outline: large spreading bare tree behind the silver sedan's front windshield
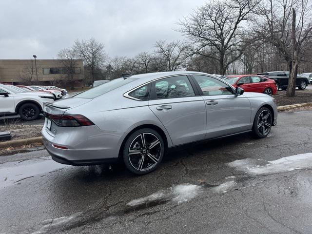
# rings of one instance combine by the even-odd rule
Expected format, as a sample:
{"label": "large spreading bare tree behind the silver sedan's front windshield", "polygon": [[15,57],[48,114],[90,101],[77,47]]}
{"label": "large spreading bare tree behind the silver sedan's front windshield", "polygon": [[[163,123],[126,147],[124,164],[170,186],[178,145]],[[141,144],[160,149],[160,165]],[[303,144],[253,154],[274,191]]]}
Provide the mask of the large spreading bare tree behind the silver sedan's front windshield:
{"label": "large spreading bare tree behind the silver sedan's front windshield", "polygon": [[[260,0],[221,0],[206,3],[179,21],[180,31],[193,45],[193,53],[218,60],[219,73],[240,58],[242,22]],[[207,52],[211,52],[208,53]],[[233,56],[234,55],[234,56]]]}

